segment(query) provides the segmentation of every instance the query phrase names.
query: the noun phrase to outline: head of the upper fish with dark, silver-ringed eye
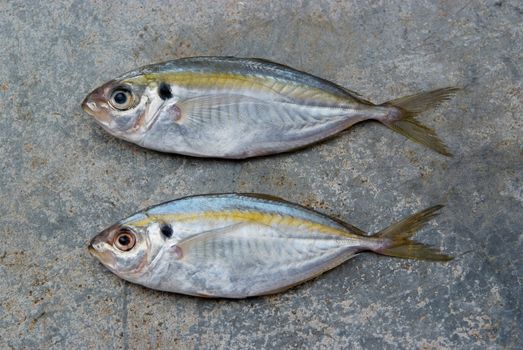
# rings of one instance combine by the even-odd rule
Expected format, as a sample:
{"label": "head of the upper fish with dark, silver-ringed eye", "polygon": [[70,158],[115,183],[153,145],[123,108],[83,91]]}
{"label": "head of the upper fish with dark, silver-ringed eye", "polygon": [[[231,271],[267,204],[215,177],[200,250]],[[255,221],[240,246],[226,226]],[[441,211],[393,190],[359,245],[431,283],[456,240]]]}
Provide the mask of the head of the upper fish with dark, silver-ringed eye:
{"label": "head of the upper fish with dark, silver-ringed eye", "polygon": [[134,141],[161,102],[152,85],[143,79],[111,80],[87,95],[82,109],[110,134]]}

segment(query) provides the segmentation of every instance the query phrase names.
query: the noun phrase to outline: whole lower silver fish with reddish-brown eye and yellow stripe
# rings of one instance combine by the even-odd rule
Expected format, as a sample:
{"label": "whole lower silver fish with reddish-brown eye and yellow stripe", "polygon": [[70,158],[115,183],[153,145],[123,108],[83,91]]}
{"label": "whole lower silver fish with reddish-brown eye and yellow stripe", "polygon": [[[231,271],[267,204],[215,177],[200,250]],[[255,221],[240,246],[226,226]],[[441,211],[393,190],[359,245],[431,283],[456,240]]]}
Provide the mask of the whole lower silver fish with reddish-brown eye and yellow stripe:
{"label": "whole lower silver fish with reddish-brown eye and yellow stripe", "polygon": [[138,212],[95,236],[89,251],[117,276],[145,287],[202,297],[277,293],[360,252],[409,259],[451,257],[411,240],[437,205],[375,235],[257,194],[186,197]]}

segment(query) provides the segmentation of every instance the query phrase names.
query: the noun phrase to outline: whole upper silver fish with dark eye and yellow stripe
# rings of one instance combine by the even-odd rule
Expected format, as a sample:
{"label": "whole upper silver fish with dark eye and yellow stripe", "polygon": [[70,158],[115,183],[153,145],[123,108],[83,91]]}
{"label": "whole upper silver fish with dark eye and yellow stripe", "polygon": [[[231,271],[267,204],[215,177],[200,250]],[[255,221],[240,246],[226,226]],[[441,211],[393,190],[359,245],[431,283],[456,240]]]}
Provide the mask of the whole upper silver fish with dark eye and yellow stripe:
{"label": "whole upper silver fish with dark eye and yellow stripe", "polygon": [[451,153],[416,116],[448,100],[443,88],[375,105],[325,79],[264,59],[192,57],[145,66],[91,92],[83,109],[142,147],[242,159],[303,148],[375,120]]}

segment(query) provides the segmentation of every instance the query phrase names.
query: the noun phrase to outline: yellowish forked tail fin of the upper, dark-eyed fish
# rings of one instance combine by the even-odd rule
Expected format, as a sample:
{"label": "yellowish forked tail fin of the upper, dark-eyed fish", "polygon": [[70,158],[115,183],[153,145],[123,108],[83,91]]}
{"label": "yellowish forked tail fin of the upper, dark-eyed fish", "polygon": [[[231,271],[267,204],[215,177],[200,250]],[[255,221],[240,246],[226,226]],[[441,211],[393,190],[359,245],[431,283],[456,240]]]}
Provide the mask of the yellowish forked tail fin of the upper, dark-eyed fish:
{"label": "yellowish forked tail fin of the upper, dark-eyed fish", "polygon": [[447,87],[388,101],[382,106],[391,108],[386,117],[378,120],[403,136],[425,145],[445,156],[452,156],[436,132],[416,120],[416,116],[449,100],[459,88]]}

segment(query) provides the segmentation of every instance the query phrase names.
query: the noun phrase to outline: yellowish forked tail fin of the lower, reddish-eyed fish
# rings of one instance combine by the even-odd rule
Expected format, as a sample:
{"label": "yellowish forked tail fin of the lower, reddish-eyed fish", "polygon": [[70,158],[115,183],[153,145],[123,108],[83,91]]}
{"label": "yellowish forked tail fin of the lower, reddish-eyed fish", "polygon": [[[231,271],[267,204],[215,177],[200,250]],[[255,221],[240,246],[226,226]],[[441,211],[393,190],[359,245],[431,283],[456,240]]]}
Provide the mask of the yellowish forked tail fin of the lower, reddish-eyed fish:
{"label": "yellowish forked tail fin of the lower, reddish-eyed fish", "polygon": [[410,239],[416,231],[438,215],[438,211],[441,208],[443,208],[442,205],[430,207],[378,232],[375,237],[383,239],[382,247],[373,249],[373,251],[378,254],[405,259],[452,260],[452,257],[443,254],[439,250]]}

